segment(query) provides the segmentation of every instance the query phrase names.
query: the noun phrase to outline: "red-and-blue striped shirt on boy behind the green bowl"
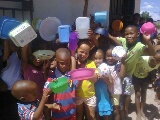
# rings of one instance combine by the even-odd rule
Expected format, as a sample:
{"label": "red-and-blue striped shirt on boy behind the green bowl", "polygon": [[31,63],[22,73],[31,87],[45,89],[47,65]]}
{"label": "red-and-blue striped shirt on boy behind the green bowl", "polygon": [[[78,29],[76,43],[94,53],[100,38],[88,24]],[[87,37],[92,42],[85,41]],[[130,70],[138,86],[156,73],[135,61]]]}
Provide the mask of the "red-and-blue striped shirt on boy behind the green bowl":
{"label": "red-and-blue striped shirt on boy behind the green bowl", "polygon": [[[61,77],[61,72],[56,69],[55,70],[56,77]],[[52,76],[53,77],[53,76]],[[48,78],[44,89],[49,88],[49,83],[54,78]],[[52,109],[52,120],[76,120],[76,104],[75,104],[75,88],[77,81],[73,81],[72,86],[67,88],[67,90],[62,93],[55,93],[53,95],[53,103],[60,104],[61,109],[55,110]]]}

